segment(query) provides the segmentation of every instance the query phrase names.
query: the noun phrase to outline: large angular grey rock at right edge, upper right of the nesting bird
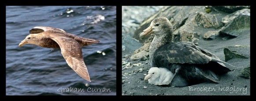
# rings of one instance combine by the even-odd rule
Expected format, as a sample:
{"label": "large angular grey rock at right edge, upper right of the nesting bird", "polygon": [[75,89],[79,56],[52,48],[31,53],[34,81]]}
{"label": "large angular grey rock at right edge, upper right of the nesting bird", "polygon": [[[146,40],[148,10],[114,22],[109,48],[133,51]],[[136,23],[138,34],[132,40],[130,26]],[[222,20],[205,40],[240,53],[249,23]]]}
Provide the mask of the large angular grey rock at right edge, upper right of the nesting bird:
{"label": "large angular grey rock at right edge, upper right of the nesting bird", "polygon": [[250,9],[242,9],[222,18],[220,34],[237,37],[245,30],[250,31]]}

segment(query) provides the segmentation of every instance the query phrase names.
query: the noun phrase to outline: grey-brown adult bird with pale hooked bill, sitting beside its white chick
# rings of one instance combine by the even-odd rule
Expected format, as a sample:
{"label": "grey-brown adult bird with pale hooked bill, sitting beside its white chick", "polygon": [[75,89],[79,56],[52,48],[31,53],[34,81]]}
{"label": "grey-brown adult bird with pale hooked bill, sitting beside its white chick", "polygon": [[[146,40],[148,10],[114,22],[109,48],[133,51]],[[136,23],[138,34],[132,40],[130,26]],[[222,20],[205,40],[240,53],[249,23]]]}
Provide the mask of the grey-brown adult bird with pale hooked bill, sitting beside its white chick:
{"label": "grey-brown adult bird with pale hooked bill, sitting beside its white chick", "polygon": [[186,79],[184,83],[194,84],[204,81],[219,83],[220,77],[218,74],[231,71],[223,64],[228,63],[221,61],[215,54],[196,46],[192,42],[174,43],[172,40],[172,25],[167,18],[154,19],[151,25],[141,33],[140,38],[143,39],[150,34],[155,34],[149,47],[151,66],[169,69],[174,73],[173,77]]}

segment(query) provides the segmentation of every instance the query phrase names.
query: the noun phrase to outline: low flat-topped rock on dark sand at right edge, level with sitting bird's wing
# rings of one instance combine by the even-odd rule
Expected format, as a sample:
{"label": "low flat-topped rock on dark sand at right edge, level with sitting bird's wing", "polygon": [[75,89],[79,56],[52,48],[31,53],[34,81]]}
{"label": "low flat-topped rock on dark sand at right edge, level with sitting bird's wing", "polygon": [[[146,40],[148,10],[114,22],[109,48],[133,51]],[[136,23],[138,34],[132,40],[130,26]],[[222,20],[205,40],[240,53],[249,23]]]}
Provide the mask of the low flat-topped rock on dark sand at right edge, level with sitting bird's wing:
{"label": "low flat-topped rock on dark sand at right edge, level with sitting bird's wing", "polygon": [[250,46],[228,46],[224,48],[225,61],[229,61],[232,58],[249,58]]}

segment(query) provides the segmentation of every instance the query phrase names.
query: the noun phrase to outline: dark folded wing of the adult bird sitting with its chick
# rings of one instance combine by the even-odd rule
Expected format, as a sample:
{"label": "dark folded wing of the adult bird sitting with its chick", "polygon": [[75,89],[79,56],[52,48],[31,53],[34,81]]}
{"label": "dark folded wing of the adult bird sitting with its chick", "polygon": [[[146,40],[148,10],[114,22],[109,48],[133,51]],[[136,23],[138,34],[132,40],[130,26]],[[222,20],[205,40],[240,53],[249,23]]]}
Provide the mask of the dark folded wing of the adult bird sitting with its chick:
{"label": "dark folded wing of the adult bird sitting with its chick", "polygon": [[158,50],[156,50],[152,62],[153,64],[159,64],[157,62],[163,61],[171,64],[207,64],[209,61],[215,61],[224,67],[226,66],[223,63],[228,64],[224,61],[221,61],[217,56],[208,50],[197,47],[194,43],[191,42],[169,43],[160,47]]}

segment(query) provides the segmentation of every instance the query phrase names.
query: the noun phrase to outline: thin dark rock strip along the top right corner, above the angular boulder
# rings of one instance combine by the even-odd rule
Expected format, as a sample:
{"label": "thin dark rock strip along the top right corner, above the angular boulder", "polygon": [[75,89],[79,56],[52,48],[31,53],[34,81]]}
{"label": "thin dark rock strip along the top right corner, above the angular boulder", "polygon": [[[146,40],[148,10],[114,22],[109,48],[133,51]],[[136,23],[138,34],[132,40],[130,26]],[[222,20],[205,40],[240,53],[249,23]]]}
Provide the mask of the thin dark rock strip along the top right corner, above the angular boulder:
{"label": "thin dark rock strip along the top right corner, above the angular boulder", "polygon": [[250,6],[212,6],[212,7],[218,11],[223,11],[227,13],[233,13],[235,11],[238,11],[244,8],[250,9]]}

